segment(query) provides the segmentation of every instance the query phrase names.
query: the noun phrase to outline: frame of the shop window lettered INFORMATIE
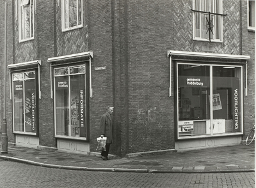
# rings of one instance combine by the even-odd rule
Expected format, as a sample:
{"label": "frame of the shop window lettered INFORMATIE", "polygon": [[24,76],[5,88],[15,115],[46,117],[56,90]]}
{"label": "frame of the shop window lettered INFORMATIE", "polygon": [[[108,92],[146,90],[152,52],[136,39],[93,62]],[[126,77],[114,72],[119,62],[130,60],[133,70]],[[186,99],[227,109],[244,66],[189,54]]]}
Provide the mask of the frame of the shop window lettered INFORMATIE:
{"label": "frame of the shop window lettered INFORMATIE", "polygon": [[[70,69],[71,68],[76,68],[78,66],[84,66],[84,73],[70,73]],[[56,69],[61,69],[61,68],[68,68],[68,73],[65,75],[55,75],[55,70]],[[72,140],[89,140],[89,119],[88,119],[88,73],[87,73],[87,64],[83,63],[83,64],[65,64],[65,65],[60,65],[60,66],[54,66],[54,68],[52,69],[52,73],[53,73],[53,90],[54,90],[54,137],[55,138],[65,138],[65,139],[72,139]],[[70,76],[73,75],[84,75],[84,109],[83,109],[83,114],[84,114],[84,127],[85,127],[85,137],[80,137],[80,136],[72,136],[72,125],[71,125],[71,106],[70,106]],[[57,134],[57,125],[56,125],[56,82],[55,82],[55,78],[56,77],[60,77],[60,76],[68,76],[68,129],[69,134],[68,135],[60,135]]]}

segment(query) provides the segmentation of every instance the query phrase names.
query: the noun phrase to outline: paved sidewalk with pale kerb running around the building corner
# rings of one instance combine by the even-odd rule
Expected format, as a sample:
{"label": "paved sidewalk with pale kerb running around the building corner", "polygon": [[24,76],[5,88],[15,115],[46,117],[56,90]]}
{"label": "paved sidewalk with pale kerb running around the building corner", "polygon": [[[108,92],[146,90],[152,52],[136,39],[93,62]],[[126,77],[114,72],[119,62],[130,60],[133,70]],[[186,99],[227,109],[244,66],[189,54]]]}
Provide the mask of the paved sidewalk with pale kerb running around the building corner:
{"label": "paved sidewalk with pale kerb running around the building corner", "polygon": [[243,144],[130,158],[73,154],[61,150],[8,146],[0,160],[49,168],[141,173],[223,173],[255,170],[255,145]]}

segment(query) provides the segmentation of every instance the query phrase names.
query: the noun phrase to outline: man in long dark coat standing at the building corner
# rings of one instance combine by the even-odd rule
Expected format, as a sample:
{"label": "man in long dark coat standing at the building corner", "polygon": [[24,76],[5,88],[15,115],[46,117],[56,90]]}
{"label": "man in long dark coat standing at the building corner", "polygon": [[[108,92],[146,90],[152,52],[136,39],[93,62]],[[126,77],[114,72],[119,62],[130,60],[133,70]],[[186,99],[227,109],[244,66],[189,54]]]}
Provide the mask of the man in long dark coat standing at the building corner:
{"label": "man in long dark coat standing at the building corner", "polygon": [[113,120],[111,114],[114,112],[114,107],[108,106],[107,112],[104,113],[100,119],[100,136],[107,137],[106,151],[101,152],[101,158],[106,161],[108,160],[108,152],[110,144],[113,142]]}

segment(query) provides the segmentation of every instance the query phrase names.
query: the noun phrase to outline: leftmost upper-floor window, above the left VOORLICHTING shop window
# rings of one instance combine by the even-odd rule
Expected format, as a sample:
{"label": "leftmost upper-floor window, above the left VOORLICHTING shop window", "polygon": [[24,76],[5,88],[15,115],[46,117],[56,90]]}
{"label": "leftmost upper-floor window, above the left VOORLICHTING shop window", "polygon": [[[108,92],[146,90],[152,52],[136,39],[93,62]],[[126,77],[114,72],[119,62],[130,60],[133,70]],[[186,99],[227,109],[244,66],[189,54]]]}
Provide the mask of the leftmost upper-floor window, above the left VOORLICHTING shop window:
{"label": "leftmost upper-floor window, above the left VOORLICHTING shop window", "polygon": [[34,1],[19,0],[19,41],[34,38]]}

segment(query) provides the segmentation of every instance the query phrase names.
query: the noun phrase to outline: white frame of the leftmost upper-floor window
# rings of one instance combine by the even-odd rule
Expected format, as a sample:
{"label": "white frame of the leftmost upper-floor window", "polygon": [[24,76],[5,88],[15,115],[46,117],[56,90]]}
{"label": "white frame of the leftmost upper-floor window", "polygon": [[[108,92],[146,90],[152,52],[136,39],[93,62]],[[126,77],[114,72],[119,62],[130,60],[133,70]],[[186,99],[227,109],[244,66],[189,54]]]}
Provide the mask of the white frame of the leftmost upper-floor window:
{"label": "white frame of the leftmost upper-floor window", "polygon": [[[19,7],[19,41],[20,42],[33,40],[35,38],[35,1],[36,0],[18,0],[18,2],[19,2],[18,3],[18,7]],[[21,10],[24,8],[24,6],[29,6],[29,37],[28,38],[25,38],[25,32],[23,32],[23,36],[22,36],[22,30],[23,31],[26,30],[25,25],[22,24],[22,14],[21,14]],[[31,15],[33,15],[32,18],[31,18]]]}

